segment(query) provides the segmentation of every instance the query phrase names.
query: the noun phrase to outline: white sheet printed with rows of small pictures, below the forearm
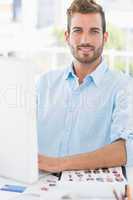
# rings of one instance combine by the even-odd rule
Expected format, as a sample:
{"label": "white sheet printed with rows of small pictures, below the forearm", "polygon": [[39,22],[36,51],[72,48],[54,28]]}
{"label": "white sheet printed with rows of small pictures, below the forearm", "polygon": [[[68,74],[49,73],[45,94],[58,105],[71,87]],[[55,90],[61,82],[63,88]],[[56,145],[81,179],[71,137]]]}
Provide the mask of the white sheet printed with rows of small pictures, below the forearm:
{"label": "white sheet printed with rows of small pictures, below the forearm", "polygon": [[73,192],[82,198],[113,198],[113,189],[120,194],[127,183],[122,168],[102,168],[96,170],[65,171],[62,173],[58,189]]}

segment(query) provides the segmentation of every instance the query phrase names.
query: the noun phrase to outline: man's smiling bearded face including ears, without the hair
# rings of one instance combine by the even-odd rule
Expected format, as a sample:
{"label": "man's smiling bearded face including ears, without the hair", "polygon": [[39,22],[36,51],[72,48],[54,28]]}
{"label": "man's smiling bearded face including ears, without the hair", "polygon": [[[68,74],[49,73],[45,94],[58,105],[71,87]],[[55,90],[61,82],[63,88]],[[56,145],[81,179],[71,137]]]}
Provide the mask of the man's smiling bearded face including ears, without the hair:
{"label": "man's smiling bearded face including ears, without the hair", "polygon": [[66,40],[74,58],[82,64],[91,64],[101,57],[107,32],[103,34],[99,13],[74,13]]}

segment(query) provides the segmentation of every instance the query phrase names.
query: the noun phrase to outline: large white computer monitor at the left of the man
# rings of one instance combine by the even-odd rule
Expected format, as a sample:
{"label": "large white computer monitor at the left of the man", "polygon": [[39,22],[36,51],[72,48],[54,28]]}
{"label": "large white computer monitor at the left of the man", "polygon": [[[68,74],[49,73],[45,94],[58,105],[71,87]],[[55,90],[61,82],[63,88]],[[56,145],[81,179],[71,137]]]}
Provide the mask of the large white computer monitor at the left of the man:
{"label": "large white computer monitor at the left of the man", "polygon": [[38,179],[33,68],[0,58],[0,176],[28,184]]}

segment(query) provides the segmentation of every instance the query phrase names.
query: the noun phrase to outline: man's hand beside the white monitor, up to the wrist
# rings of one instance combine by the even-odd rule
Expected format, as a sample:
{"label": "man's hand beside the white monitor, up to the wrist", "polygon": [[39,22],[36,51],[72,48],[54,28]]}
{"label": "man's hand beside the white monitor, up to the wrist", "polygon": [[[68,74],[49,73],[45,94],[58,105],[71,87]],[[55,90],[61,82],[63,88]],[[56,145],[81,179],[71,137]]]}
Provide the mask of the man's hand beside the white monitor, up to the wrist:
{"label": "man's hand beside the white monitor, up to the wrist", "polygon": [[47,172],[61,172],[63,171],[63,158],[48,157],[39,154],[38,166],[40,170]]}

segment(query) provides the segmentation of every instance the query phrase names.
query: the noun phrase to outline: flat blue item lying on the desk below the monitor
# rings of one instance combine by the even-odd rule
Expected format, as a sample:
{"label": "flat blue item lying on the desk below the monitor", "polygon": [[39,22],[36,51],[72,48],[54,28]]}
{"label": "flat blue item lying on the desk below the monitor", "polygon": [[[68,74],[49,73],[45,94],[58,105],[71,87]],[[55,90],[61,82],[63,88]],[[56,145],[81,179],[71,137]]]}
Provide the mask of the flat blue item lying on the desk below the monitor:
{"label": "flat blue item lying on the desk below the monitor", "polygon": [[18,186],[18,185],[4,185],[3,187],[0,188],[2,191],[8,191],[8,192],[18,192],[22,193],[26,187],[24,186]]}

